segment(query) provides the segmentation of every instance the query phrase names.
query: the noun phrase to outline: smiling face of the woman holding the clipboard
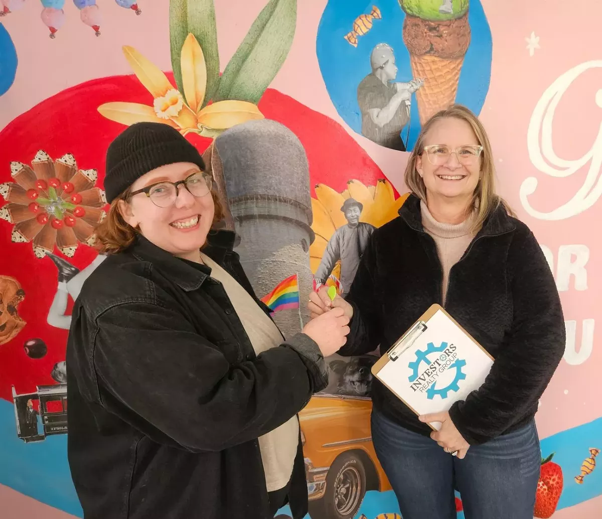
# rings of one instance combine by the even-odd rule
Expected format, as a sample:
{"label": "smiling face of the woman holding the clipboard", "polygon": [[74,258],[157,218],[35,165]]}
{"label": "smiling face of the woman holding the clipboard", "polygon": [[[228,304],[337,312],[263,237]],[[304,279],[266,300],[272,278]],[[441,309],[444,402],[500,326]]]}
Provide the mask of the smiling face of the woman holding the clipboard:
{"label": "smiling face of the woman holding the clipboard", "polygon": [[[424,148],[432,145],[454,150],[462,146],[478,146],[480,143],[468,122],[447,117],[435,122],[424,135]],[[425,151],[416,158],[416,169],[424,181],[427,201],[436,202],[445,198],[462,200],[468,204],[479,183],[481,158],[463,159],[461,162],[452,153],[443,164],[435,165]]]}

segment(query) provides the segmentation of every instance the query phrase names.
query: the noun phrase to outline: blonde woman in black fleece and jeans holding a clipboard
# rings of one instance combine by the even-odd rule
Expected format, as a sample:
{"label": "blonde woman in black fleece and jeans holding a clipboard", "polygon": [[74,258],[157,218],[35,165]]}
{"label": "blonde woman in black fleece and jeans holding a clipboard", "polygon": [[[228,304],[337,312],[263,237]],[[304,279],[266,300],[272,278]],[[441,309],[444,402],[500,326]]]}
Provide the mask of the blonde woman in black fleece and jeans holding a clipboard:
{"label": "blonde woman in black fleece and jeans holding a clipboard", "polygon": [[[532,519],[541,453],[534,415],[562,358],[560,299],[533,233],[495,193],[489,139],[454,105],[422,128],[399,217],[374,231],[346,299],[311,294],[312,317],[343,308],[340,355],[386,350],[440,303],[494,357],[484,384],[417,417],[375,380],[374,449],[403,519]],[[433,432],[427,423],[439,421]]]}

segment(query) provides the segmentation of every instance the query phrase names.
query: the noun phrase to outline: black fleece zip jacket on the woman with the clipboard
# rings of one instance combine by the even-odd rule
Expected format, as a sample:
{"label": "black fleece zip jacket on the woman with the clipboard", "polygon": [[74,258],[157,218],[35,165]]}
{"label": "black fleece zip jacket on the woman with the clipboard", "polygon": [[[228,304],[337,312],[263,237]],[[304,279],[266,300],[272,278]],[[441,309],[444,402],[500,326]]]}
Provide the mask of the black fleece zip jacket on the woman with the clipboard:
{"label": "black fleece zip jacket on the woman with the clipboard", "polygon": [[[386,350],[433,303],[442,301],[435,241],[412,195],[399,217],[377,229],[347,301],[351,332],[341,355]],[[500,205],[450,270],[445,309],[494,357],[485,383],[456,402],[450,417],[470,444],[485,443],[533,418],[565,349],[560,298],[527,226]],[[376,379],[374,408],[406,429],[432,430]]]}

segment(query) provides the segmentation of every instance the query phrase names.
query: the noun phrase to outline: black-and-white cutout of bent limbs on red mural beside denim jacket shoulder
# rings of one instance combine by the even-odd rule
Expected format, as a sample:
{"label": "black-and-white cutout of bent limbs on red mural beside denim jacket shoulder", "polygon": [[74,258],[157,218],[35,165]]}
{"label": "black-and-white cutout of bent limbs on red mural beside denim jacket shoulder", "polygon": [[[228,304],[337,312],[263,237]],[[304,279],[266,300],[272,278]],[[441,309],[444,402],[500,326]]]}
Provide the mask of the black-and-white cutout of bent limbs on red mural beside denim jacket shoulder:
{"label": "black-and-white cutout of bent limbs on red mural beside denim jacket shoulder", "polygon": [[65,315],[65,312],[67,311],[69,296],[71,296],[73,300],[77,299],[84,281],[88,279],[96,267],[107,259],[107,256],[99,254],[93,259],[92,263],[85,267],[85,269],[79,270],[77,267],[70,264],[69,261],[66,261],[66,259],[60,258],[52,253],[47,255],[57,266],[58,286],[57,293],[54,294],[54,299],[52,299],[46,321],[55,328],[68,330],[71,325],[71,316]]}

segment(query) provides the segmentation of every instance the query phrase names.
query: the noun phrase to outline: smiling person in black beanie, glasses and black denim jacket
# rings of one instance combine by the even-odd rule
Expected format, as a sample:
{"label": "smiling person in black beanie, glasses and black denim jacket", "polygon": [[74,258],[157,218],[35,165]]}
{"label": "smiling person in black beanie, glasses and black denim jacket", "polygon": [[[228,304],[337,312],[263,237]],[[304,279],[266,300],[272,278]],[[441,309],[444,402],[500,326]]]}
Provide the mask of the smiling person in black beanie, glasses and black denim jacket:
{"label": "smiling person in black beanie, glasses and black denim jacket", "polygon": [[[72,312],[67,454],[90,519],[305,516],[297,413],[345,343],[338,309],[282,337],[199,152],[137,123],[107,152],[108,254]],[[329,312],[330,313],[330,312]]]}

